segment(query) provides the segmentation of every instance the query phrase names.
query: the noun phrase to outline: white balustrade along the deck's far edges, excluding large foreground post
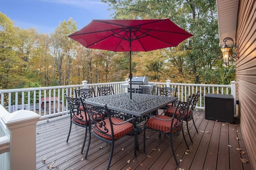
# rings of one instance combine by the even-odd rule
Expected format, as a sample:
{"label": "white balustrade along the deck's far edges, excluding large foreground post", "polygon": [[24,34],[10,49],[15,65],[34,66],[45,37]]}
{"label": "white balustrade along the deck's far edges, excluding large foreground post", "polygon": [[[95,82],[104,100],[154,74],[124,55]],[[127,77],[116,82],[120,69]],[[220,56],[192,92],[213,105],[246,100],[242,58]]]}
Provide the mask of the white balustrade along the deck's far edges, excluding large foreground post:
{"label": "white balustrade along the deck's far edges, excluding large foreground post", "polygon": [[[127,91],[127,88],[122,87],[123,83],[127,82],[87,84],[87,81],[83,81],[80,85],[0,90],[0,103],[9,113],[19,109],[25,109],[34,111],[41,117],[40,119],[46,119],[68,113],[64,93],[68,96],[74,96],[74,89],[93,87],[96,96],[98,96],[98,87],[110,85],[113,86],[114,93],[124,93]],[[149,83],[156,84],[156,87],[176,87],[177,97],[181,101],[186,101],[189,95],[199,91],[200,99],[196,107],[197,109],[204,109],[204,95],[206,93],[232,94],[234,98],[236,97],[236,82],[231,82],[231,85],[170,83],[170,80],[167,80],[165,83]],[[232,84],[234,84],[233,88]],[[155,89],[156,92],[157,88]]]}

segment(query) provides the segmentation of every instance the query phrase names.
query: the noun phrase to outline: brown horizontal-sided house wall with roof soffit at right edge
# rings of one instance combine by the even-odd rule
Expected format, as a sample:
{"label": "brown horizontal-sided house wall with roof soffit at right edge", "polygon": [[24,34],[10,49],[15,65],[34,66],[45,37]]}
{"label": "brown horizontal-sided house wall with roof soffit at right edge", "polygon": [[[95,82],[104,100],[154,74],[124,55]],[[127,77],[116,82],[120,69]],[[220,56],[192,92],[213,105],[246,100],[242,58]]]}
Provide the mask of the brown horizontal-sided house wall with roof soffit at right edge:
{"label": "brown horizontal-sided house wall with roof soffit at right edge", "polygon": [[[238,46],[236,111],[252,168],[256,169],[256,0],[216,2],[220,47],[224,45],[223,39],[227,37],[232,38]],[[231,45],[230,42],[227,45]]]}

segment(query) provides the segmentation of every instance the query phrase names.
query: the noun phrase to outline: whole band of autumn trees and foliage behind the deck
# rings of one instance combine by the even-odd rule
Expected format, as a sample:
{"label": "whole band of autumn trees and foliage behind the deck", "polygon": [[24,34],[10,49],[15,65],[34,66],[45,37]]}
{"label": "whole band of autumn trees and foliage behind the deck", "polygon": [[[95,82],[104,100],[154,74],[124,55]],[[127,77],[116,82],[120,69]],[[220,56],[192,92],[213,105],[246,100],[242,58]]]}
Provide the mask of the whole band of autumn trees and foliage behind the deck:
{"label": "whole band of autumn trees and foliage behind the deck", "polygon": [[[177,47],[132,52],[132,73],[150,81],[229,84],[235,65],[222,63],[215,0],[102,0],[115,19],[169,18],[194,34]],[[124,81],[129,52],[87,49],[68,38],[69,18],[55,32],[23,30],[0,12],[0,89]],[[32,95],[32,94],[30,94]]]}

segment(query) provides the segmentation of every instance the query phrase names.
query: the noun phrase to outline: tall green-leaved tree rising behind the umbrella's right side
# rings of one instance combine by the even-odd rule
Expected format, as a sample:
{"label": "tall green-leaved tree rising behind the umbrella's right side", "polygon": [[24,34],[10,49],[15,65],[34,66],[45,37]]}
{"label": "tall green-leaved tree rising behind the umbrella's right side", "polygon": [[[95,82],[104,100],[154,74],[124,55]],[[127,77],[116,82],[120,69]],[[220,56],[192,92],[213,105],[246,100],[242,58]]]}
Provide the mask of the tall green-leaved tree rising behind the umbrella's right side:
{"label": "tall green-leaved tree rising behind the umbrella's right side", "polygon": [[[170,64],[176,67],[174,70],[182,75],[176,81],[184,82],[186,75],[192,75],[193,78],[189,76],[191,83],[219,82],[218,77],[211,74],[212,71],[208,72],[212,69],[215,72],[223,69],[223,65],[218,65],[220,50],[215,0],[102,0],[102,2],[107,3],[114,11],[115,19],[169,18],[184,30],[194,34],[178,47],[168,50],[166,54],[169,57],[164,68]],[[165,71],[171,72],[167,69]]]}

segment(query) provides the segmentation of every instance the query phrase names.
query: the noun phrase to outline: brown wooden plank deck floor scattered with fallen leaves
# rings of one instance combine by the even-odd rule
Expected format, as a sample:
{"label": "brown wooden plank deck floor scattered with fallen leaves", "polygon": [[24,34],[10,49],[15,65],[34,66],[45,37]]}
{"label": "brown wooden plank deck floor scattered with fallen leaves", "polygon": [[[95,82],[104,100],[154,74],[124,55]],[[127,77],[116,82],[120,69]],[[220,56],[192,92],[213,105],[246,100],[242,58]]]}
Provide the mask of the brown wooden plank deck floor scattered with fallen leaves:
{"label": "brown wooden plank deck floor scattered with fallen leaves", "polygon": [[[192,121],[190,123],[194,144],[190,143],[191,152],[185,154],[186,144],[182,134],[174,139],[179,167],[185,170],[251,170],[248,154],[242,154],[236,148],[246,151],[239,122],[228,124],[204,119],[204,112],[194,114],[199,134]],[[69,129],[69,115],[40,121],[36,126],[36,169],[37,170],[104,170],[108,163],[110,145],[92,137],[88,157],[80,154],[84,128],[73,125],[69,141],[66,142]],[[127,135],[117,140],[112,158],[111,170],[179,170],[176,168],[169,145],[170,138],[150,131],[146,136],[146,155],[142,153],[143,138],[139,135],[139,150],[134,159],[134,136]],[[237,138],[238,137],[238,138]],[[186,139],[190,142],[189,136]],[[237,140],[238,139],[238,140]],[[87,141],[86,141],[87,146]],[[84,147],[84,151],[86,150]],[[152,150],[156,148],[156,150]],[[160,149],[160,151],[158,151]],[[151,158],[148,158],[149,155]],[[246,158],[248,164],[240,158]],[[45,161],[43,161],[45,160]],[[127,162],[130,161],[128,164]],[[51,166],[52,164],[52,166]],[[49,167],[49,168],[48,168]],[[50,168],[51,167],[51,168]]]}

